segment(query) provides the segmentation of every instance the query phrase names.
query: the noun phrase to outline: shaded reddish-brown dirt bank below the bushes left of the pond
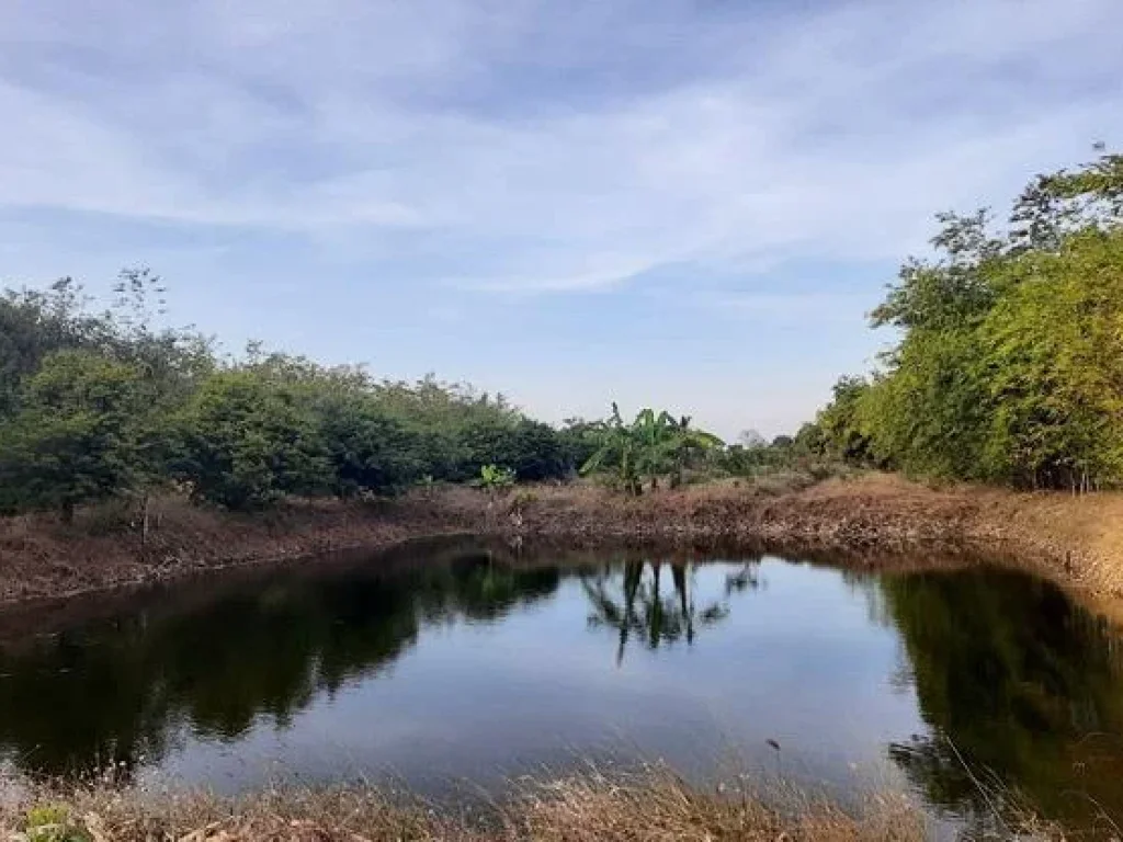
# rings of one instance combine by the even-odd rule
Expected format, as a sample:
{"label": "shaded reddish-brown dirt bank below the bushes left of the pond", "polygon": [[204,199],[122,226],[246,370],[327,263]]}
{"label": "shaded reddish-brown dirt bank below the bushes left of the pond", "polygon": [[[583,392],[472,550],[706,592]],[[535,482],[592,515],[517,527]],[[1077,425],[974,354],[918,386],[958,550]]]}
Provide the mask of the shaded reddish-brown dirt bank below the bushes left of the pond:
{"label": "shaded reddish-brown dirt bank below the bushes left of the pond", "polygon": [[472,531],[485,504],[477,497],[454,489],[432,500],[294,503],[253,514],[166,500],[154,505],[143,544],[139,524],[115,506],[79,512],[70,524],[0,519],[0,604]]}

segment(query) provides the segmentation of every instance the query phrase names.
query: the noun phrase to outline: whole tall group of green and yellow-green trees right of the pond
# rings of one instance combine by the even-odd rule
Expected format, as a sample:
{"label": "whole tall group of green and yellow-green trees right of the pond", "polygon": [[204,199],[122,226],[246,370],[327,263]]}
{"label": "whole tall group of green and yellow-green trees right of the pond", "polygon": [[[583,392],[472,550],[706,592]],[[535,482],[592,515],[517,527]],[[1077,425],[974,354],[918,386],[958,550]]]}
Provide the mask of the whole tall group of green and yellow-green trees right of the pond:
{"label": "whole tall group of green and yellow-green trees right of the pond", "polygon": [[1123,485],[1123,156],[1039,176],[996,227],[943,214],[875,327],[900,341],[839,382],[822,449],[910,474]]}

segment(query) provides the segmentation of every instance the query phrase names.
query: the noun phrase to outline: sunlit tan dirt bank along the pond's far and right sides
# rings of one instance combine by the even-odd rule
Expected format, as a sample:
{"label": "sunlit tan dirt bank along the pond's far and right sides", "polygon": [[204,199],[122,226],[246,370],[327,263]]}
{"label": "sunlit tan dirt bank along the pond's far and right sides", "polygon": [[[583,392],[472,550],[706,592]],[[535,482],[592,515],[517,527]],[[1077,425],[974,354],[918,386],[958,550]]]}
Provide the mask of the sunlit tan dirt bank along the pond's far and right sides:
{"label": "sunlit tan dirt bank along the pond's far and right sides", "polygon": [[878,567],[985,559],[1029,567],[1099,597],[1123,597],[1123,494],[933,488],[869,474],[792,491],[728,483],[639,500],[590,487],[529,496],[514,520],[536,537],[721,541]]}

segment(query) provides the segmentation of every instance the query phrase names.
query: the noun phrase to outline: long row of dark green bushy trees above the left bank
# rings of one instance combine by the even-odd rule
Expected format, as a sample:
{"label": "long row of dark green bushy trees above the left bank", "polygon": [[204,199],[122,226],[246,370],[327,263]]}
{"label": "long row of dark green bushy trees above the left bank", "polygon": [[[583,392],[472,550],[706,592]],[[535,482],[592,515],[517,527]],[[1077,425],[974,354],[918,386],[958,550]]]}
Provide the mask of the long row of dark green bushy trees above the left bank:
{"label": "long row of dark green bushy trees above the left bank", "polygon": [[121,274],[93,312],[74,282],[0,298],[0,511],[53,510],[179,488],[232,510],[289,495],[393,494],[420,482],[575,473],[597,425],[560,430],[501,395],[377,381],[252,346],[219,357],[156,329],[159,280]]}

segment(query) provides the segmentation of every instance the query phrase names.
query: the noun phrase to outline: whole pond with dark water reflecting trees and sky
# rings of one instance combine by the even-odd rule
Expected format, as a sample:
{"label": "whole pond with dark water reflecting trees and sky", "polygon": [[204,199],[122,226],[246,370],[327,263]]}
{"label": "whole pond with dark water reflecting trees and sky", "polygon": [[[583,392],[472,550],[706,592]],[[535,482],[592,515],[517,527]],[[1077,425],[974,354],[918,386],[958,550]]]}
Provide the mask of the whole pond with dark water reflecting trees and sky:
{"label": "whole pond with dark water reflecting trees and sky", "polygon": [[663,759],[1086,825],[1123,815],[1121,640],[997,570],[418,544],[0,613],[0,757],[428,791]]}

